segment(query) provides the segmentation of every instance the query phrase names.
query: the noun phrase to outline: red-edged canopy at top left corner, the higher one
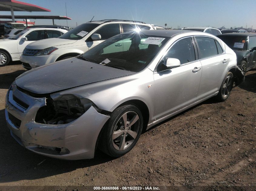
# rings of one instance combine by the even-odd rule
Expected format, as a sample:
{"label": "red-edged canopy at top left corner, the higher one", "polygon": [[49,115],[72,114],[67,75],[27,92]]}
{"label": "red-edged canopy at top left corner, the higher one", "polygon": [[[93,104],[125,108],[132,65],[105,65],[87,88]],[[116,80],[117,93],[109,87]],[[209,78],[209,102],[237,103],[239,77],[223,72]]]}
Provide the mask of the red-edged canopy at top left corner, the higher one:
{"label": "red-edged canopy at top left corner, the higher one", "polygon": [[11,11],[12,22],[15,22],[13,11],[47,11],[51,12],[50,9],[39,7],[30,3],[25,3],[16,0],[0,0],[0,11]]}

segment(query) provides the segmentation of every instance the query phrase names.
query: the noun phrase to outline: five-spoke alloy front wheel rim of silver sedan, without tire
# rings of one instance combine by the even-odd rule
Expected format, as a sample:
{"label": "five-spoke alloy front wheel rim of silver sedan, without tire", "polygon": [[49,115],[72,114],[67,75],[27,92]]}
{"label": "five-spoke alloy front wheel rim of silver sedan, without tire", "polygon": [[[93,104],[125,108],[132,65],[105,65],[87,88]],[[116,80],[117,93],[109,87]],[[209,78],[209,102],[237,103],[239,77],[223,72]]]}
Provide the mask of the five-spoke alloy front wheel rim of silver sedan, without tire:
{"label": "five-spoke alloy front wheel rim of silver sedan, without tire", "polygon": [[128,111],[124,113],[118,122],[112,134],[112,144],[118,151],[124,151],[136,139],[140,129],[140,119],[136,112]]}

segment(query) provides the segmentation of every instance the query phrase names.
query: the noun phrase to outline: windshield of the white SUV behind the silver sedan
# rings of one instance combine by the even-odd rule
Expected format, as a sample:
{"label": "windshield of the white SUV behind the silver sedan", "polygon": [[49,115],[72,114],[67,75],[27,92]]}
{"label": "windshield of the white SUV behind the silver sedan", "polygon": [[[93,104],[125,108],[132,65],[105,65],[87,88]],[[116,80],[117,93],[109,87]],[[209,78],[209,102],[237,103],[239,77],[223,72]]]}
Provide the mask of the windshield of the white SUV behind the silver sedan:
{"label": "windshield of the white SUV behind the silver sedan", "polygon": [[81,24],[70,31],[66,32],[59,38],[64,38],[64,39],[70,39],[70,40],[80,40],[82,39],[87,33],[91,32],[93,29],[98,27],[100,24],[95,24],[95,23],[85,23]]}

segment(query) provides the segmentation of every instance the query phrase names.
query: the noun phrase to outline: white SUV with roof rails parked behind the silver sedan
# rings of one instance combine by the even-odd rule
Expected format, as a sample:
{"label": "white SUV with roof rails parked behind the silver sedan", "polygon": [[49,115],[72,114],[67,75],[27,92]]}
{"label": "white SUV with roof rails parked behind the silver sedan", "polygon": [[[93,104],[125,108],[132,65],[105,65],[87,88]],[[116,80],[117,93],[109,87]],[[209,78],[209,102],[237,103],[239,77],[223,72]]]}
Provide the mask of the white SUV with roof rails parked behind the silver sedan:
{"label": "white SUV with roof rails parked behind the silver sedan", "polygon": [[[59,38],[31,43],[21,57],[26,69],[78,56],[104,40],[133,30],[154,30],[150,24],[129,20],[101,20],[81,24]],[[115,45],[123,49],[123,44]]]}

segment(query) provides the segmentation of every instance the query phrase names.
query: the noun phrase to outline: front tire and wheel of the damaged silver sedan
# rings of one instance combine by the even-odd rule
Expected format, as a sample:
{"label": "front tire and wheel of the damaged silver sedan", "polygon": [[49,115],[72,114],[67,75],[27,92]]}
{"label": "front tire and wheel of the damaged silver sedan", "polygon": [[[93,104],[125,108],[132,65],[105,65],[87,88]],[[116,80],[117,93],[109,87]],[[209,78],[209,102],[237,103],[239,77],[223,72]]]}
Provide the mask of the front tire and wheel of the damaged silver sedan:
{"label": "front tire and wheel of the damaged silver sedan", "polygon": [[103,129],[99,149],[111,157],[121,157],[135,146],[141,135],[142,127],[143,117],[136,106],[118,107],[111,113]]}

